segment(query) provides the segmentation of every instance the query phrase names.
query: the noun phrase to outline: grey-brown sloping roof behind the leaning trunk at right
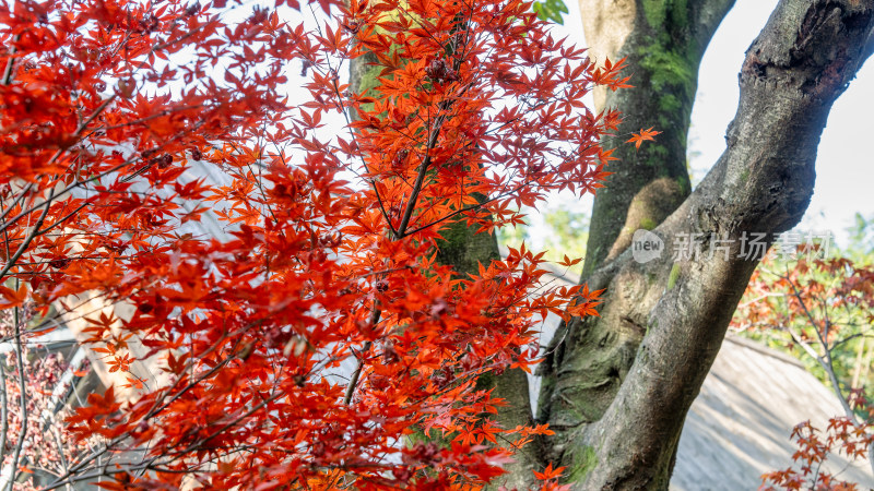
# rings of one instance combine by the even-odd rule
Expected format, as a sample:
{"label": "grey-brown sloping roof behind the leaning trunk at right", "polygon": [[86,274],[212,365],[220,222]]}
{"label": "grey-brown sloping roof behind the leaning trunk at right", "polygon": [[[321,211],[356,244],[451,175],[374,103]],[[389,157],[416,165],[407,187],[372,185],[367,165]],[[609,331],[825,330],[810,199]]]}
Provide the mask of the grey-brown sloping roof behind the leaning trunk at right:
{"label": "grey-brown sloping roof behind the leaning trunk at right", "polygon": [[[574,284],[558,272],[547,279]],[[548,344],[559,321],[554,315],[546,320],[541,346]],[[538,379],[529,376],[532,404]],[[763,474],[793,464],[798,447],[790,436],[796,424],[811,420],[825,429],[829,418],[841,415],[835,393],[799,360],[729,334],[686,416],[671,490],[757,489]],[[874,489],[867,460],[829,455],[823,470],[860,489]]]}

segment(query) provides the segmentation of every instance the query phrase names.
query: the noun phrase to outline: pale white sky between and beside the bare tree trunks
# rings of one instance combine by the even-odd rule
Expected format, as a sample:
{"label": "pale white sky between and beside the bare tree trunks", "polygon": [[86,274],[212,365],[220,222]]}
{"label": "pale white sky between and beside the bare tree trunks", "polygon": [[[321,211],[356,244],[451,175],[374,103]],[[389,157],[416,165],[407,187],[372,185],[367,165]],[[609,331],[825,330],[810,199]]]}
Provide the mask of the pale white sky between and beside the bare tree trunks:
{"label": "pale white sky between and beside the bare tree trunks", "polygon": [[[744,53],[776,4],[776,0],[739,0],[708,46],[698,73],[688,140],[693,184],[704,178],[725,148],[725,129],[737,109],[737,73]],[[564,25],[555,27],[555,34],[586,46],[579,7],[575,0],[569,0],[567,7],[569,13]],[[813,201],[799,230],[830,231],[839,244],[846,243],[846,229],[853,224],[855,213],[874,215],[874,152],[870,148],[867,120],[872,112],[874,61],[869,61],[831,109],[819,143]],[[581,202],[565,194],[552,196],[548,207],[558,206],[590,209],[591,196]],[[533,228],[542,224],[539,216],[530,218]]]}

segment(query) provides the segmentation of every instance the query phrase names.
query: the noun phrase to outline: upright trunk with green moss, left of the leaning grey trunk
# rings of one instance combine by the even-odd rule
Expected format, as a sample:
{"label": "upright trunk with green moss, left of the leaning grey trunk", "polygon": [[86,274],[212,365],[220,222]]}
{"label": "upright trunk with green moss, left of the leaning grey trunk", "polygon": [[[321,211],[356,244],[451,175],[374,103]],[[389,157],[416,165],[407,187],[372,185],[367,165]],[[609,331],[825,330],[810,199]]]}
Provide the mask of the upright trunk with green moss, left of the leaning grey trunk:
{"label": "upright trunk with green moss, left of the leaning grey trunk", "polygon": [[[591,56],[598,62],[625,58],[633,88],[595,91],[595,109],[618,109],[623,122],[602,141],[618,160],[594,199],[582,276],[603,263],[627,226],[658,225],[692,192],[686,170],[686,135],[697,89],[698,65],[716,27],[733,0],[580,0]],[[656,142],[640,148],[626,141],[653,127]],[[658,180],[673,181],[659,206],[638,206],[638,193]],[[652,201],[648,201],[652,202]],[[642,228],[651,228],[642,227]],[[634,230],[631,230],[634,232]],[[628,241],[629,242],[629,241]],[[627,244],[626,244],[627,246]],[[616,252],[622,252],[616,251]]]}

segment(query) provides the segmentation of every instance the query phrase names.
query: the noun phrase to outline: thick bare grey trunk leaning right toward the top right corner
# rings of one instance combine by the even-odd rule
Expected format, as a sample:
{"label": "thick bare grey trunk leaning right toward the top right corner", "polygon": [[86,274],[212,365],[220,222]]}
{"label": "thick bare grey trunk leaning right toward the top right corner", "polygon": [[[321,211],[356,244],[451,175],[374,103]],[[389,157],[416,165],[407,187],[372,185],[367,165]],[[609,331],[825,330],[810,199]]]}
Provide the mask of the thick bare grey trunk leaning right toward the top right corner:
{"label": "thick bare grey trunk leaning right toward the top right corner", "polygon": [[[753,43],[725,152],[652,230],[668,243],[700,233],[702,253],[641,264],[627,250],[616,260],[597,322],[622,326],[631,320],[646,334],[603,417],[559,434],[568,445],[563,465],[594,462],[577,489],[666,488],[685,415],[756,266],[740,254],[741,237],[765,232],[770,246],[801,219],[813,194],[819,135],[832,103],[869,55],[863,47],[872,26],[874,0],[782,0]],[[730,241],[731,258],[708,254],[714,237]],[[587,352],[566,349],[572,351],[566,360]],[[572,387],[564,395],[574,399]],[[582,457],[587,452],[594,456]]]}

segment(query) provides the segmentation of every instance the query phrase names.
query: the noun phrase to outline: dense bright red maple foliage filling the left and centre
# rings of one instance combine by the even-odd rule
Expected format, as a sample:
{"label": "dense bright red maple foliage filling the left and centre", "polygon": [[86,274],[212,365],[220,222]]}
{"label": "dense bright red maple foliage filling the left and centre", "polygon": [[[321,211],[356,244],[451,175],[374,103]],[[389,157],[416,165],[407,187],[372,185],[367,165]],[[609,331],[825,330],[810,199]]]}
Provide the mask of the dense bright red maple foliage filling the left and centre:
{"label": "dense bright red maple foliage filling the left and centre", "polygon": [[[499,427],[477,381],[530,370],[540,321],[600,292],[543,285],[524,248],[471,274],[437,252],[457,220],[602,185],[618,115],[582,97],[627,86],[622,62],[518,0],[299,7],[0,4],[0,308],[44,318],[21,338],[52,304],[132,311],[85,314],[127,384],[67,419],[91,446],[51,486],[461,489],[550,433]],[[342,80],[358,60],[373,86]]]}

